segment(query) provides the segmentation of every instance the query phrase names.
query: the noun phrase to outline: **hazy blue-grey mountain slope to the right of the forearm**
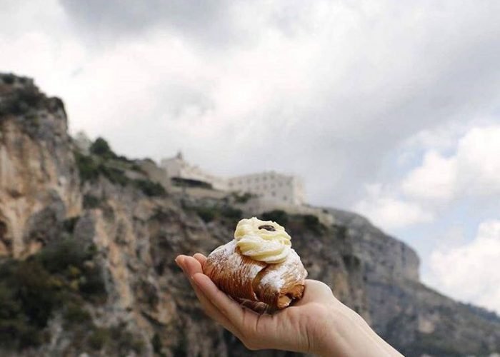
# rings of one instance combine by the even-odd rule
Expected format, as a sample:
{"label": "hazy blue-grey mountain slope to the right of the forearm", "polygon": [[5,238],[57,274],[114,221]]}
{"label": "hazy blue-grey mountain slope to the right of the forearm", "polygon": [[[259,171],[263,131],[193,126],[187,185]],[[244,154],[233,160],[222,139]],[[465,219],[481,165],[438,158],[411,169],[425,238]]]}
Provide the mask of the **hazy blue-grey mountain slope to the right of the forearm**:
{"label": "hazy blue-grey mountain slope to the right of the forearm", "polygon": [[419,281],[413,249],[356,213],[329,209],[359,263],[371,326],[405,356],[485,356],[500,350],[500,318]]}

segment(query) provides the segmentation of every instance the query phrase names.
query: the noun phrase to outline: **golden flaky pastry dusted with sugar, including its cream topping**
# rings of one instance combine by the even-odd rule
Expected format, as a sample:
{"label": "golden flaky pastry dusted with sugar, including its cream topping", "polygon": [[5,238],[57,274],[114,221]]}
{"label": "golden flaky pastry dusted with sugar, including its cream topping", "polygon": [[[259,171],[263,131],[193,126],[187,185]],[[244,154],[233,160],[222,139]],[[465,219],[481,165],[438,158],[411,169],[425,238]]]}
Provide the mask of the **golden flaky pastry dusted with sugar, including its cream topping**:
{"label": "golden flaky pastry dusted with sugar, including its cream topping", "polygon": [[221,291],[259,312],[300,299],[307,276],[285,228],[256,217],[239,221],[234,240],[210,253],[204,273]]}

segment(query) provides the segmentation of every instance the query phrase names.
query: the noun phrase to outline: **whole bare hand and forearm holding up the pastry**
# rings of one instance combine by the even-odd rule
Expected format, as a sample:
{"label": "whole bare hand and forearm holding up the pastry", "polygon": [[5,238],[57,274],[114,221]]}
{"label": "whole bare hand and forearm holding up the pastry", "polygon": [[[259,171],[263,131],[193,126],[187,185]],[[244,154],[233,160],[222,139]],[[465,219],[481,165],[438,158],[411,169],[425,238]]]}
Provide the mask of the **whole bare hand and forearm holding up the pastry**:
{"label": "whole bare hand and forearm holding up the pastry", "polygon": [[402,356],[320,281],[306,280],[304,296],[294,306],[261,315],[220,291],[204,275],[205,261],[200,253],[176,258],[206,314],[250,350],[272,348],[333,357]]}

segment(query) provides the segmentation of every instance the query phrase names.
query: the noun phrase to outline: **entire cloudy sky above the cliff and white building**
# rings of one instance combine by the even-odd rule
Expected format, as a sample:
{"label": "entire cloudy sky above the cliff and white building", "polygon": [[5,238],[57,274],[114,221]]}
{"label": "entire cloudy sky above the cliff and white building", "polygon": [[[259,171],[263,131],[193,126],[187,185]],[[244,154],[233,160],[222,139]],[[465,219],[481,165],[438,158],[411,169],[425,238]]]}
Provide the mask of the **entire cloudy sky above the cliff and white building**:
{"label": "entire cloudy sky above the cliff and white building", "polygon": [[500,312],[499,1],[0,6],[0,70],[64,99],[72,133],[301,176],[416,248],[426,283]]}

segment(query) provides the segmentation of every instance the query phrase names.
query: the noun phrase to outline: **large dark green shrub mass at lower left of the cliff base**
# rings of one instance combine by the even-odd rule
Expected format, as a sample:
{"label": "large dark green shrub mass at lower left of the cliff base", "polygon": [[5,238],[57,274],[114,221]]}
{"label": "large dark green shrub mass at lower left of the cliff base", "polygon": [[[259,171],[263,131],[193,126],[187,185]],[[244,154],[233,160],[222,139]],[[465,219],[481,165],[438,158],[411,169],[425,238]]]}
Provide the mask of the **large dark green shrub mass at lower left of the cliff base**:
{"label": "large dark green shrub mass at lower left of the cliff base", "polygon": [[[70,324],[90,321],[81,296],[101,298],[105,293],[99,266],[90,261],[94,253],[69,238],[24,261],[0,261],[0,345],[19,350],[46,342],[45,327],[59,309]],[[75,283],[86,292],[75,293]]]}

